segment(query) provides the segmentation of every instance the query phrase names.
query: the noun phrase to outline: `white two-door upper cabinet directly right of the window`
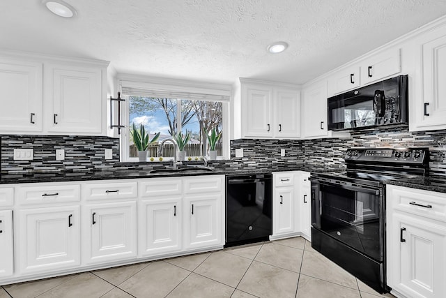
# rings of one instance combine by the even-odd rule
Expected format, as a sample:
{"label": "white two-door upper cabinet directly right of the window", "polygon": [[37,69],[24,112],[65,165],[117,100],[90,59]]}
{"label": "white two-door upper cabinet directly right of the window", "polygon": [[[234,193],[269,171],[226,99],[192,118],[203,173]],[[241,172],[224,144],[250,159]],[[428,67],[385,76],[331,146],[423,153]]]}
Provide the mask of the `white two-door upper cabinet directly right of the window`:
{"label": "white two-door upper cabinet directly right of the window", "polygon": [[300,137],[300,92],[272,82],[240,79],[242,137]]}

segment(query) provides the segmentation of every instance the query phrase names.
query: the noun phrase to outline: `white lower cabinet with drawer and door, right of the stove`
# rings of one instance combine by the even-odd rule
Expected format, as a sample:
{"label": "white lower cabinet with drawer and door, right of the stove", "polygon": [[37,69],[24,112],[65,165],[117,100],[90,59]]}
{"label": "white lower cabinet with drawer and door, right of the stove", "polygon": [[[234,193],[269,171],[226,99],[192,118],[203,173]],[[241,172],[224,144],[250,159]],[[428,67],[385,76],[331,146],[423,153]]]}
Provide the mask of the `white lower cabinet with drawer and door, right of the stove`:
{"label": "white lower cabinet with drawer and door, right of the stove", "polygon": [[386,200],[392,294],[446,297],[446,194],[387,186]]}

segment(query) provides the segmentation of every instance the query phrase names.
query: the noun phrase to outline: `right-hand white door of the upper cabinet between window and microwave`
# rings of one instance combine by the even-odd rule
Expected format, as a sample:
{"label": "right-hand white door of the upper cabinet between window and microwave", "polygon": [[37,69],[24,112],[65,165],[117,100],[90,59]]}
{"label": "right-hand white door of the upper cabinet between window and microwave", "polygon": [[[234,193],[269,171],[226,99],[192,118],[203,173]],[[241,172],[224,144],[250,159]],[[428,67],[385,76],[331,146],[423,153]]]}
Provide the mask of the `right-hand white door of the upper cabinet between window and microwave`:
{"label": "right-hand white door of the upper cabinet between window and microwave", "polygon": [[275,125],[272,129],[275,137],[300,137],[300,93],[276,89],[273,103]]}

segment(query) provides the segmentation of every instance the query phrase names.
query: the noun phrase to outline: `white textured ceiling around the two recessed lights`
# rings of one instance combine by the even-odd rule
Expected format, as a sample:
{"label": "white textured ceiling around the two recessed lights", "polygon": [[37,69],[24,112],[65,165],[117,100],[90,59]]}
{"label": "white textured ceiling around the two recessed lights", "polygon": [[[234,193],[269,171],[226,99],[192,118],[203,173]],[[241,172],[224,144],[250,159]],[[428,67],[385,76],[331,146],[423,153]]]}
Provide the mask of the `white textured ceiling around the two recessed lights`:
{"label": "white textured ceiling around the two recessed lights", "polygon": [[[446,14],[445,0],[0,1],[0,48],[111,61],[120,73],[304,83]],[[268,54],[284,40],[289,49]]]}

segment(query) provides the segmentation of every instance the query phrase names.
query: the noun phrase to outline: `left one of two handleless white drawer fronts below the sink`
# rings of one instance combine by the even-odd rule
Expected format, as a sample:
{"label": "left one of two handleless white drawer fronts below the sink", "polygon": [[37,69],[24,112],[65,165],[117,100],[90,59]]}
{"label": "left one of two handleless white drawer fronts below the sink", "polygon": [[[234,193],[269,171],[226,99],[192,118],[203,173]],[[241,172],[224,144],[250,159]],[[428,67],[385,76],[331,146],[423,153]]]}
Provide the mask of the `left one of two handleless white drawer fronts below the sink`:
{"label": "left one of two handleless white drawer fronts below the sink", "polygon": [[181,179],[178,178],[152,178],[139,182],[139,196],[156,199],[165,195],[181,195],[181,186]]}

